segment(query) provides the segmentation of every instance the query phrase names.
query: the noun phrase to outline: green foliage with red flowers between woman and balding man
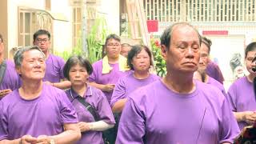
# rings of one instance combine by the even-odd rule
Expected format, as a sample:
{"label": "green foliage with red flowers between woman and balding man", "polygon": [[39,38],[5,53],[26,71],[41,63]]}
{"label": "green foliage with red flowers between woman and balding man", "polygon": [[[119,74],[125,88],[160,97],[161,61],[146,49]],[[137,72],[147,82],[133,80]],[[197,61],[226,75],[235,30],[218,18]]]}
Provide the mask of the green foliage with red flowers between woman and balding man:
{"label": "green foliage with red flowers between woman and balding man", "polygon": [[163,77],[166,75],[166,61],[162,58],[160,43],[158,40],[151,38],[150,44],[154,56],[155,70],[158,76]]}

